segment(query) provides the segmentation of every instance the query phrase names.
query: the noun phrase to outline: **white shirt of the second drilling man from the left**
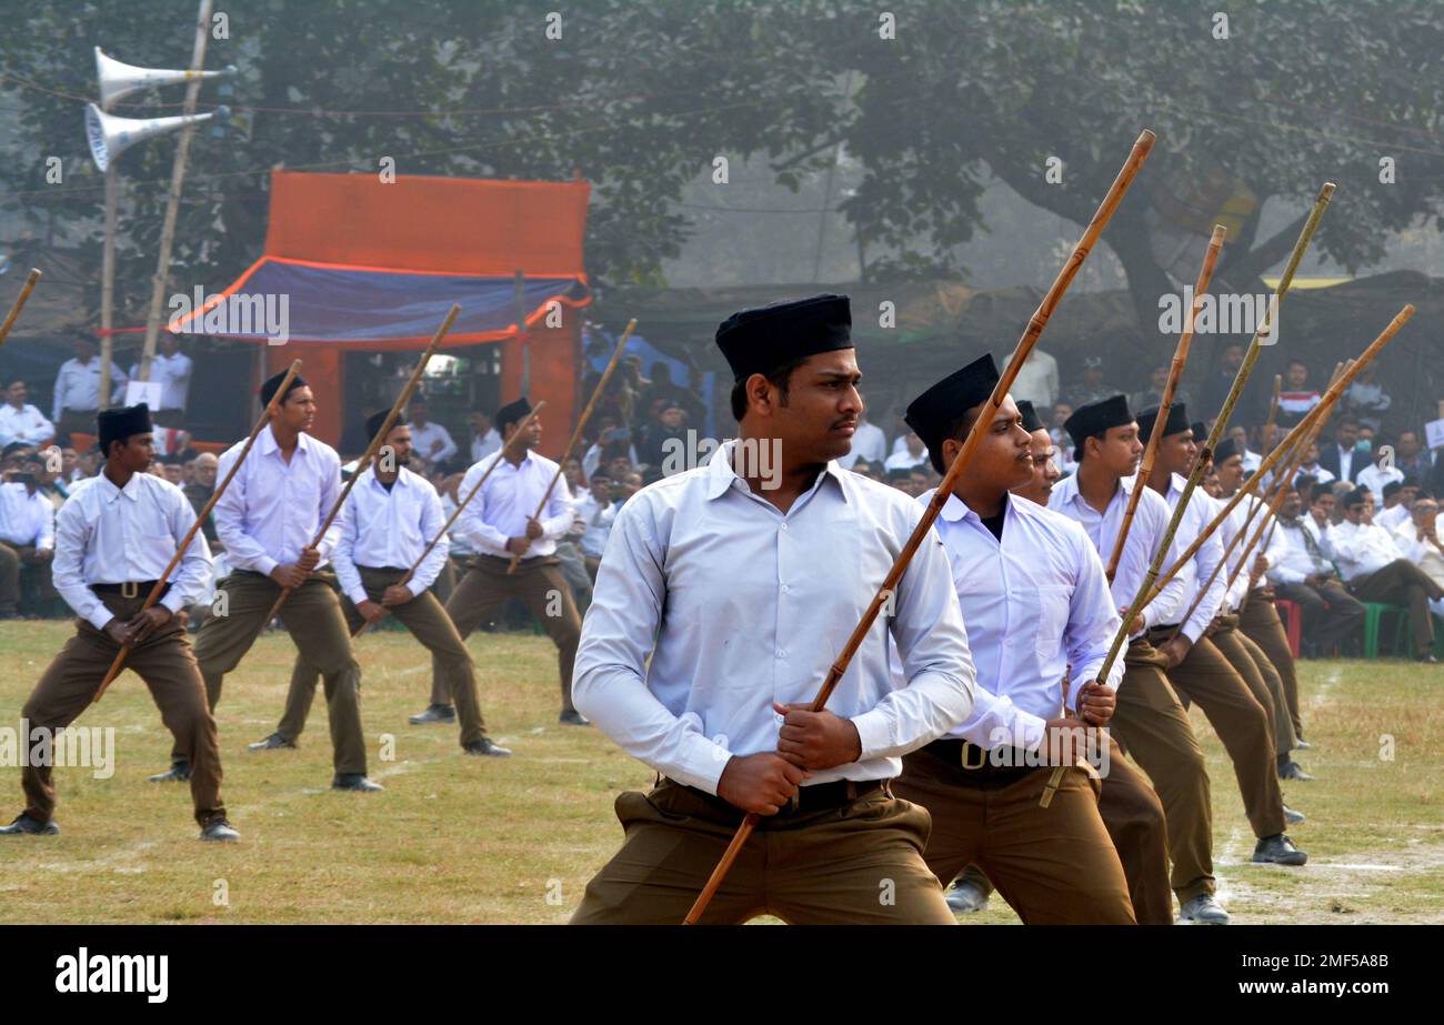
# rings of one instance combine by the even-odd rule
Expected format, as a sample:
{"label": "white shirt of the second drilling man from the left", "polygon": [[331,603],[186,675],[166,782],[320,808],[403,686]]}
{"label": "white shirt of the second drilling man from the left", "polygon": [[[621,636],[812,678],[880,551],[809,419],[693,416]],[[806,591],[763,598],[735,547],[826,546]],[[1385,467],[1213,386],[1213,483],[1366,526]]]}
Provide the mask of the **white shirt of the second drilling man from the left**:
{"label": "white shirt of the second drilling man from the left", "polygon": [[[244,442],[228,448],[215,476],[224,481],[241,455]],[[267,424],[256,437],[231,487],[215,504],[215,534],[225,546],[234,569],[270,575],[280,564],[295,563],[312,543],[322,521],[341,497],[341,458],[325,442],[300,435],[290,463],[282,458],[276,435]],[[341,517],[331,523],[316,546],[325,566],[341,537]]]}

